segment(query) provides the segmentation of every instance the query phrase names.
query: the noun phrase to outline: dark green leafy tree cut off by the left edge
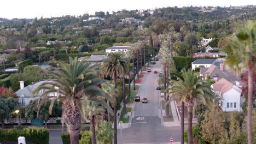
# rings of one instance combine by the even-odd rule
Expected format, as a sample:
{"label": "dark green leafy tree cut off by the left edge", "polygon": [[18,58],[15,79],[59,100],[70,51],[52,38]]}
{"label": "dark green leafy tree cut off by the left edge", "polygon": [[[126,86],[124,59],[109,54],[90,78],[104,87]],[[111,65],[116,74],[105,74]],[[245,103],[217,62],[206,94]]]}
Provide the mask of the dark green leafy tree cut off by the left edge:
{"label": "dark green leafy tree cut off by the left edge", "polygon": [[2,128],[4,128],[4,119],[10,118],[10,113],[18,108],[18,100],[15,98],[2,98],[0,97],[0,121]]}

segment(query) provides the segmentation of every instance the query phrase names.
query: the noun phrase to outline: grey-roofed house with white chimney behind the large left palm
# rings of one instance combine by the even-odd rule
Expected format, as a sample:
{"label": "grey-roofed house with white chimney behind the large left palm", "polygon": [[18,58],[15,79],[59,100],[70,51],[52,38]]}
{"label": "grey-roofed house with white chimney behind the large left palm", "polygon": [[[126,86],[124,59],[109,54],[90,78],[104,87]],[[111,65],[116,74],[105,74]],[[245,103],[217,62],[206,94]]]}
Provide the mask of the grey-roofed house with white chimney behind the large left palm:
{"label": "grey-roofed house with white chimney behind the large left palm", "polygon": [[[30,85],[24,87],[24,81],[20,81],[20,89],[15,92],[18,96],[18,101],[20,105],[28,105],[30,100],[36,100],[40,97],[40,95],[44,92],[44,90],[40,90],[38,94],[34,94],[31,97],[31,93],[42,83],[48,82],[48,80],[39,80],[37,82],[31,83]],[[49,97],[56,97],[57,93],[50,93]]]}

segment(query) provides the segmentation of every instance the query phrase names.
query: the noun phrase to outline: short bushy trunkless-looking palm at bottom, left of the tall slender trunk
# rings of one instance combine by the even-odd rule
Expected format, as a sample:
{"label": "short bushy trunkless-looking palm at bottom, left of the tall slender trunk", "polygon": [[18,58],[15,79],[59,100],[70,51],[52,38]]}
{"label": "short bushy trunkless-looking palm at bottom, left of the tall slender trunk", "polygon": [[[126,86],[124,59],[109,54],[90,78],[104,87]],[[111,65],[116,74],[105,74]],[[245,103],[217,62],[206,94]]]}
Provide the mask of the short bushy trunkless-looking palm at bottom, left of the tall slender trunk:
{"label": "short bushy trunkless-looking palm at bottom, left of the tall slender trunk", "polygon": [[98,141],[98,144],[110,144],[113,140],[113,129],[111,122],[100,122],[100,127],[96,131],[96,139]]}

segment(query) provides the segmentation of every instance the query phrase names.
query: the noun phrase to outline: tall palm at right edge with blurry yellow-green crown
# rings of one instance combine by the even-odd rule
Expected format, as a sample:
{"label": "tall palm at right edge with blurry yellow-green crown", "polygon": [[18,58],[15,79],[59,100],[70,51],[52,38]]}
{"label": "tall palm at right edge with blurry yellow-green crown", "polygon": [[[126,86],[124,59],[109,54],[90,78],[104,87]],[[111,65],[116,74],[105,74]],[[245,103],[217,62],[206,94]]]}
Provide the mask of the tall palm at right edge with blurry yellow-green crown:
{"label": "tall palm at right edge with blurry yellow-green crown", "polygon": [[237,34],[225,47],[228,53],[226,63],[237,72],[248,70],[248,143],[252,144],[252,103],[253,103],[253,71],[256,65],[256,22],[249,21],[244,27],[237,28]]}

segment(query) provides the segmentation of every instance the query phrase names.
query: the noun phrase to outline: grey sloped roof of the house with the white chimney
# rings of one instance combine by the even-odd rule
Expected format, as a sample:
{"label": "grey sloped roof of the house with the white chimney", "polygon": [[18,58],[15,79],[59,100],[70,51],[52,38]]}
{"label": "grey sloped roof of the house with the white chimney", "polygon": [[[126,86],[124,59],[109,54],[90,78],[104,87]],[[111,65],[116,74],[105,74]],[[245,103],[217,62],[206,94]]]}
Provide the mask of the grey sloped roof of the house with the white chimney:
{"label": "grey sloped roof of the house with the white chimney", "polygon": [[[28,85],[22,89],[19,89],[16,94],[18,97],[21,97],[24,95],[24,97],[31,97],[31,93],[36,89],[39,85],[41,85],[43,82],[47,82],[48,80],[39,80],[35,83],[32,83],[31,85]],[[35,94],[34,96],[41,95],[41,93]]]}

